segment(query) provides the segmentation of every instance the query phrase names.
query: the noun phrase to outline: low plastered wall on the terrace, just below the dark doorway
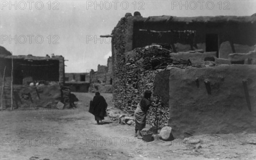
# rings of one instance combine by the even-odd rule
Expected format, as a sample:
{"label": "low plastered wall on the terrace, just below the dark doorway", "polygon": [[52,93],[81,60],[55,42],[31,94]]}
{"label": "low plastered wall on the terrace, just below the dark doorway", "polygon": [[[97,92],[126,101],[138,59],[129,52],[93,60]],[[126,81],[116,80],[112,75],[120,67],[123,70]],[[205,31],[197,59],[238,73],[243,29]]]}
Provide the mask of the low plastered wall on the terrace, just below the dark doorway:
{"label": "low plastered wall on the terrace, just below the dark doorway", "polygon": [[178,53],[171,53],[170,55],[172,56],[173,59],[185,59],[185,60],[190,59],[192,64],[200,65],[201,62],[204,61],[205,57],[215,57],[216,52],[204,52],[204,53],[178,52]]}

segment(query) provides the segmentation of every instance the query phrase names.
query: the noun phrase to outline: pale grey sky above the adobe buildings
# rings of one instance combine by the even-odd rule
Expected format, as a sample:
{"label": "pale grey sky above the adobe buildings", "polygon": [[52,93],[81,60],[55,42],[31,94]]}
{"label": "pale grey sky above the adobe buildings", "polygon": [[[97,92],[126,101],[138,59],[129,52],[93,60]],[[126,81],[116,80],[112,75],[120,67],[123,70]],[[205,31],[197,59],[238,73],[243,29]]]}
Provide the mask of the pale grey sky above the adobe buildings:
{"label": "pale grey sky above the adobe buildings", "polygon": [[107,65],[111,34],[125,13],[143,17],[235,15],[256,13],[256,0],[1,0],[0,45],[13,55],[62,55],[66,73]]}

